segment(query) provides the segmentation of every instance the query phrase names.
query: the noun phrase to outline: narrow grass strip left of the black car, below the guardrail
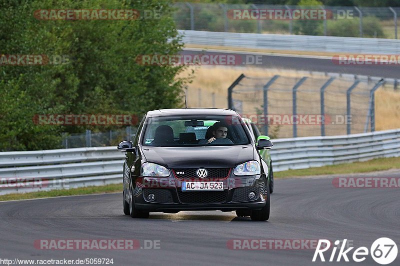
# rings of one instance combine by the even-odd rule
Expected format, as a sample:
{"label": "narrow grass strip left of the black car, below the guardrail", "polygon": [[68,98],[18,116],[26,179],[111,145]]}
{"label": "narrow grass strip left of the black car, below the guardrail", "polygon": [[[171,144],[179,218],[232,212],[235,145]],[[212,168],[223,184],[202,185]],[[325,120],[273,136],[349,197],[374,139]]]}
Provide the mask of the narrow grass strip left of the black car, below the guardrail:
{"label": "narrow grass strip left of the black car, below the guardrail", "polygon": [[85,188],[74,188],[74,189],[60,189],[51,191],[39,191],[29,193],[15,193],[8,195],[0,195],[0,201],[13,201],[13,200],[27,200],[36,198],[48,198],[48,197],[59,197],[59,196],[74,196],[74,195],[87,195],[87,194],[100,194],[100,193],[113,193],[121,192],[122,184],[110,184],[104,186],[92,186]]}

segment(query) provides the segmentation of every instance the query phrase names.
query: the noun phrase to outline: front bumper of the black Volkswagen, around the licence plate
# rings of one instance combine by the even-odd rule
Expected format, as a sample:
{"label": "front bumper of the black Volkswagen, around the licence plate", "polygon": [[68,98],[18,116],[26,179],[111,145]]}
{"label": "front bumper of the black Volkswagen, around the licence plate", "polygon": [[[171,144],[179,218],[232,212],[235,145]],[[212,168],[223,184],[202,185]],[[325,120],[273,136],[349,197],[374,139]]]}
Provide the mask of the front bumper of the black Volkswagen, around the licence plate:
{"label": "front bumper of the black Volkswagen, around the licence plate", "polygon": [[[196,180],[199,181],[199,180]],[[181,191],[181,180],[176,177],[134,179],[134,204],[137,209],[149,212],[178,212],[220,210],[260,210],[265,206],[268,179],[265,174],[234,176],[218,180],[223,182],[223,191]],[[249,199],[249,192],[255,193]],[[153,194],[150,201],[148,195]]]}

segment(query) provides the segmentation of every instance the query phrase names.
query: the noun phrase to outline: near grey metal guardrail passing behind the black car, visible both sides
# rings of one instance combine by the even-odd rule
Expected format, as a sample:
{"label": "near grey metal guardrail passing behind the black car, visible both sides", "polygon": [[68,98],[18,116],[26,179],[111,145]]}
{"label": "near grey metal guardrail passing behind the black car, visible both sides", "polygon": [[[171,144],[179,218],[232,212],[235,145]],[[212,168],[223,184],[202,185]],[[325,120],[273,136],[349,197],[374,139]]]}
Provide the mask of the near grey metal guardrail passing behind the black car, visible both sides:
{"label": "near grey metal guardrail passing behind the black car, visible both sides", "polygon": [[[274,171],[400,156],[400,129],[273,142]],[[115,147],[0,152],[0,194],[120,183],[123,158]],[[7,182],[15,178],[30,180],[30,185]],[[35,178],[51,183],[35,186]]]}

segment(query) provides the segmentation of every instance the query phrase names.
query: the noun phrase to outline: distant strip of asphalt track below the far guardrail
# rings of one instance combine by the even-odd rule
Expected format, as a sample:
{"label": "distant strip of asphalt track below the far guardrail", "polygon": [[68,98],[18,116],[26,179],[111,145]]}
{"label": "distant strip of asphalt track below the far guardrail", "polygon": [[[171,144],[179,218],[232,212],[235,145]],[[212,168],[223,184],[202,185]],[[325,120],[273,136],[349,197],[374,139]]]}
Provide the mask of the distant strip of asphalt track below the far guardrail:
{"label": "distant strip of asphalt track below the far guardrail", "polygon": [[[182,54],[198,54],[201,49],[185,48]],[[208,50],[201,54],[217,55],[232,54],[241,56],[240,66],[255,66],[262,68],[284,68],[305,71],[333,72],[343,74],[355,74],[376,76],[385,78],[400,78],[400,65],[338,65],[333,63],[331,57],[328,56],[307,56],[307,55],[273,55],[267,53],[256,52],[240,52],[240,51],[223,51]],[[248,55],[261,56],[261,64],[245,64],[245,57]]]}

